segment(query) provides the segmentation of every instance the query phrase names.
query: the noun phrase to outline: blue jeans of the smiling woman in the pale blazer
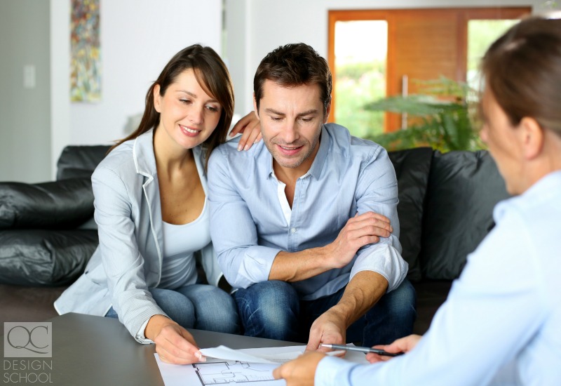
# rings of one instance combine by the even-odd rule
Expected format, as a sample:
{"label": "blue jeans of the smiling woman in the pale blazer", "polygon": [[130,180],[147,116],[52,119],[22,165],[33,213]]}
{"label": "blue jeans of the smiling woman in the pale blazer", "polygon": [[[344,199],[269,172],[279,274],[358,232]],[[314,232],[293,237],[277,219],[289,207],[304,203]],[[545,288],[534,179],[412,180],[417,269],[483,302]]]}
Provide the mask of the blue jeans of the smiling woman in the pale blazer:
{"label": "blue jeans of the smiling woman in the pale blazer", "polygon": [[[191,284],[175,290],[150,288],[149,291],[163,312],[184,328],[240,333],[236,303],[220,288]],[[111,307],[105,317],[119,316]]]}

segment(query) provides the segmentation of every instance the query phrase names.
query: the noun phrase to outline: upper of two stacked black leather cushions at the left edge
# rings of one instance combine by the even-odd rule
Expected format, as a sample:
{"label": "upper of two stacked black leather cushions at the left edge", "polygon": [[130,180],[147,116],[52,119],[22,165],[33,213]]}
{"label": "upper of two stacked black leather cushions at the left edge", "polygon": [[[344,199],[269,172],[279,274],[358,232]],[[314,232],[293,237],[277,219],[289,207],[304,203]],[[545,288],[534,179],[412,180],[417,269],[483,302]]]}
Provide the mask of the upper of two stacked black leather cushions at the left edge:
{"label": "upper of two stacked black leather cushions at the left edge", "polygon": [[0,229],[74,228],[92,216],[89,178],[41,184],[0,182]]}

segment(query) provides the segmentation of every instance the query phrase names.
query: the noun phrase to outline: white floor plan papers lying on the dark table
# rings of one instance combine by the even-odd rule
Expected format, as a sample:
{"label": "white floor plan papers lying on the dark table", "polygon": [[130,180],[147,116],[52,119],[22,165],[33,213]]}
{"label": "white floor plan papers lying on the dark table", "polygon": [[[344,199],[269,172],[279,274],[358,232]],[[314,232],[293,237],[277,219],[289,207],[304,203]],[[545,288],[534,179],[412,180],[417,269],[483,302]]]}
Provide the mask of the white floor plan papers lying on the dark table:
{"label": "white floor plan papers lying on the dark table", "polygon": [[[280,386],[286,382],[275,380],[273,369],[297,358],[305,349],[306,346],[288,346],[232,350],[219,346],[201,349],[207,361],[188,365],[165,364],[158,354],[154,355],[165,386],[233,386],[242,382],[251,382],[251,386]],[[345,359],[368,363],[362,352],[346,352]]]}

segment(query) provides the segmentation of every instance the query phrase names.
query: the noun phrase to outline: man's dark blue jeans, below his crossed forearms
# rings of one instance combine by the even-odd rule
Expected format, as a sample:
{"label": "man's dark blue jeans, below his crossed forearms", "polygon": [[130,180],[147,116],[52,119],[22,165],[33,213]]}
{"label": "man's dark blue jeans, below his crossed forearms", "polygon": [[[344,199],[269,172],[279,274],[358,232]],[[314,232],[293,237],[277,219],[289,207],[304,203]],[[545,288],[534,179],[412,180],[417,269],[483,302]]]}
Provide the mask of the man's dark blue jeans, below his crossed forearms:
{"label": "man's dark blue jeans, below his crossed forearms", "polygon": [[[344,289],[317,300],[303,301],[290,284],[270,280],[238,289],[234,298],[245,335],[307,342],[313,321],[339,302]],[[415,306],[415,290],[405,279],[347,328],[347,342],[362,342],[371,347],[410,335],[417,317]]]}

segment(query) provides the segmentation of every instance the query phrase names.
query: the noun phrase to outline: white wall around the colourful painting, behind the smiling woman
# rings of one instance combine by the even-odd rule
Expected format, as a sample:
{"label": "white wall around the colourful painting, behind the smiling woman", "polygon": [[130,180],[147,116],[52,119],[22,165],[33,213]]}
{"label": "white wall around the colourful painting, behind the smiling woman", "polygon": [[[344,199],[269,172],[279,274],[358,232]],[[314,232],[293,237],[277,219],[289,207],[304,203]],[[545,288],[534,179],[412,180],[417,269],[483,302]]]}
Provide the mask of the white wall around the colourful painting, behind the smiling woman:
{"label": "white wall around the colourful painting, behind the smiling woman", "polygon": [[69,0],[50,0],[53,53],[53,163],[65,145],[110,143],[142,114],[165,63],[191,44],[222,50],[221,0],[102,0],[102,100],[69,101]]}

